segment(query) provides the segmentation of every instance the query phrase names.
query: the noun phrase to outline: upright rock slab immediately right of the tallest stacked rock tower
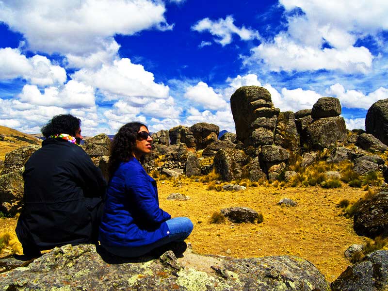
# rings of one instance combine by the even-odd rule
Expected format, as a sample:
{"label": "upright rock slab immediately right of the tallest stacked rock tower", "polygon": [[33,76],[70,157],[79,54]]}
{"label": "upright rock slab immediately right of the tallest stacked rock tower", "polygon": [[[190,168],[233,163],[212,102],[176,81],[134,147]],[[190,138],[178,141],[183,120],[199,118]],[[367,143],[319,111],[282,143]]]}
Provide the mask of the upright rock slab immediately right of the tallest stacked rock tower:
{"label": "upright rock slab immediately right of the tallest stacked rock tower", "polygon": [[299,135],[293,112],[286,111],[279,113],[275,130],[275,145],[291,151],[299,148]]}

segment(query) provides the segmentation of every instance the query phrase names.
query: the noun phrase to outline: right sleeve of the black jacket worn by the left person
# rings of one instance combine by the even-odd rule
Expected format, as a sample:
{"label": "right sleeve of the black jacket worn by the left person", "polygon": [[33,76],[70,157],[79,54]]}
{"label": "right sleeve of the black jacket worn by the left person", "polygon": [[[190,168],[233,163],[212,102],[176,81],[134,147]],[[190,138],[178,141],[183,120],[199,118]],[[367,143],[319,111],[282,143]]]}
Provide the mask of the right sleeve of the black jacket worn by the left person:
{"label": "right sleeve of the black jacket worn by the left person", "polygon": [[[82,149],[81,149],[82,150]],[[83,180],[83,193],[85,197],[98,197],[105,199],[107,183],[102,172],[90,159],[89,155],[82,150],[77,159],[78,171]]]}

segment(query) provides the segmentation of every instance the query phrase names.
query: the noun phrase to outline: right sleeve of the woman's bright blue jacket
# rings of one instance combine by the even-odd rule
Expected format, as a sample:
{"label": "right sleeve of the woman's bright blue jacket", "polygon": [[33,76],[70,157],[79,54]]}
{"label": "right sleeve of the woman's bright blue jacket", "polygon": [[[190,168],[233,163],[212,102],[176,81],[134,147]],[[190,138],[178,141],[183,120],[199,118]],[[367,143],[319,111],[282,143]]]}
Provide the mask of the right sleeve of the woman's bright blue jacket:
{"label": "right sleeve of the woman's bright blue jacket", "polygon": [[171,215],[159,208],[156,193],[148,177],[139,172],[127,175],[126,189],[139,215],[150,224],[160,224],[171,218]]}

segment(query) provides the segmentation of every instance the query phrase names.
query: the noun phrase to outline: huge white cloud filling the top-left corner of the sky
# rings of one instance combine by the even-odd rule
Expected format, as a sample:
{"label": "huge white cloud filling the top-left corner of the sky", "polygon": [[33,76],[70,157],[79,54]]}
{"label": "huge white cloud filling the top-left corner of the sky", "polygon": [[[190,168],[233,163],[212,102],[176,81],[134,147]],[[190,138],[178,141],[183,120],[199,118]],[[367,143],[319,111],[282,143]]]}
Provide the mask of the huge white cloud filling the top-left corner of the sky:
{"label": "huge white cloud filling the top-left corner of the sky", "polygon": [[104,49],[116,33],[172,29],[162,1],[1,1],[0,21],[21,32],[32,50],[85,56]]}

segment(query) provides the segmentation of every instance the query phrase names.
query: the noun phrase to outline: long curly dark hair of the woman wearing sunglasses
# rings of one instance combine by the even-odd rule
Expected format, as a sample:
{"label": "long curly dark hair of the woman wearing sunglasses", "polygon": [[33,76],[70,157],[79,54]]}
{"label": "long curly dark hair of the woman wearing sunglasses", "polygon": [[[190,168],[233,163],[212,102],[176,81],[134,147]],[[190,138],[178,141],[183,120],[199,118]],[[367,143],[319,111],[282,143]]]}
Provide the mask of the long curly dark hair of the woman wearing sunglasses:
{"label": "long curly dark hair of the woman wearing sunglasses", "polygon": [[142,126],[148,130],[147,126],[140,122],[127,123],[113,137],[108,165],[109,179],[113,177],[121,162],[128,162],[133,158],[132,152],[136,145],[137,133]]}

